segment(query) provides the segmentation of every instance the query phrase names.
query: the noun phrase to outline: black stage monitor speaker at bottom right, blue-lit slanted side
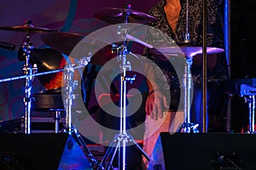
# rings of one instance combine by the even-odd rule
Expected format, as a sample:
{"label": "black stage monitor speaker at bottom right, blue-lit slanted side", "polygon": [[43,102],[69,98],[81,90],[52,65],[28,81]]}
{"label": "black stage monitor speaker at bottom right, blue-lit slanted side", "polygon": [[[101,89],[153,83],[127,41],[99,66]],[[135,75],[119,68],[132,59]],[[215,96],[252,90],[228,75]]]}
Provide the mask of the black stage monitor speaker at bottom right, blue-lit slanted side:
{"label": "black stage monitor speaker at bottom right, blue-lit slanted side", "polygon": [[150,170],[256,169],[256,135],[160,133]]}

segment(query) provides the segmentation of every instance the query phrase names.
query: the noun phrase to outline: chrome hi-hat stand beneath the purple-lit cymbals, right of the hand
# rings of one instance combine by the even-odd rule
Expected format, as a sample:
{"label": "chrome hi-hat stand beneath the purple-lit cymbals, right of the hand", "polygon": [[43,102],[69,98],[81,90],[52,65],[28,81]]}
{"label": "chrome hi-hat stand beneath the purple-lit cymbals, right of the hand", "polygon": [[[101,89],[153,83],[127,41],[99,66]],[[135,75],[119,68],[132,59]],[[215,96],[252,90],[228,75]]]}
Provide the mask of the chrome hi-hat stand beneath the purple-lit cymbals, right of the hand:
{"label": "chrome hi-hat stand beneath the purple-lit cymbals, right of the hand", "polygon": [[184,102],[184,122],[177,128],[177,133],[199,133],[198,124],[190,122],[190,104],[191,104],[191,88],[192,88],[192,74],[190,71],[193,59],[186,58],[185,72],[183,75],[183,102]]}

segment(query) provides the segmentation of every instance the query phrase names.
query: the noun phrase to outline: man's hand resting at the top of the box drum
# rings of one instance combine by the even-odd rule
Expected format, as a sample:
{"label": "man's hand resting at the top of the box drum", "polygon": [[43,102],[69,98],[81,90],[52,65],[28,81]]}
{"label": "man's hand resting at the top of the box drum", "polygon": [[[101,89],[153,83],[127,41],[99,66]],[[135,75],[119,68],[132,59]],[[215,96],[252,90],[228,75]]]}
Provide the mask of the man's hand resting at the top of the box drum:
{"label": "man's hand resting at the top of the box drum", "polygon": [[145,105],[146,114],[150,115],[150,118],[154,120],[162,118],[162,104],[166,107],[166,109],[168,109],[169,105],[167,104],[166,96],[162,94],[161,91],[157,90],[153,93],[148,94]]}

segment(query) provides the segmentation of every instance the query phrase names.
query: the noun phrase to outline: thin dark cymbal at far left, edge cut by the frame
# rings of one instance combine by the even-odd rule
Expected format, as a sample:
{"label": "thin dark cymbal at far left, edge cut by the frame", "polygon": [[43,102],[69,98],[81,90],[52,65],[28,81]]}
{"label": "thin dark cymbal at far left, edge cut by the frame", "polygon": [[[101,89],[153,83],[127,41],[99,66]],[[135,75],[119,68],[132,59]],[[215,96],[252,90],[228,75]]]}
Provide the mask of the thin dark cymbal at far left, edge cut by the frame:
{"label": "thin dark cymbal at far left, edge cut by the frame", "polygon": [[31,20],[26,20],[25,25],[23,25],[23,26],[0,26],[0,30],[26,31],[26,32],[33,31],[33,32],[38,32],[38,33],[55,31],[55,30],[52,30],[52,29],[49,29],[49,28],[33,26]]}

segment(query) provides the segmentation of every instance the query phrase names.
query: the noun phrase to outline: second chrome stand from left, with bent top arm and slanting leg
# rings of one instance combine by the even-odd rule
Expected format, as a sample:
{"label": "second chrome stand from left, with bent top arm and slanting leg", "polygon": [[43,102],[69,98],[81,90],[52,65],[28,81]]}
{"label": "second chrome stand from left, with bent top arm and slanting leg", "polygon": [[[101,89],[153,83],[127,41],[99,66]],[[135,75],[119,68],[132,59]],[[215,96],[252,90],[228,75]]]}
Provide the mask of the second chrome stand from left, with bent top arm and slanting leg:
{"label": "second chrome stand from left, with bent top arm and slanting leg", "polygon": [[76,127],[72,124],[72,105],[73,105],[73,99],[75,99],[74,90],[78,86],[78,81],[73,80],[73,74],[74,70],[84,67],[85,65],[88,65],[90,62],[92,53],[90,52],[89,57],[84,57],[79,60],[78,64],[67,64],[64,68],[64,81],[65,81],[65,89],[64,89],[64,105],[66,110],[66,133],[71,134],[79,144],[83,147],[84,153],[86,156],[90,158],[90,165],[91,167],[98,168],[98,169],[104,169],[101,165],[98,164],[98,161],[96,158],[91,154],[89,148],[86,146],[84,139],[80,135],[80,133],[77,131]]}

